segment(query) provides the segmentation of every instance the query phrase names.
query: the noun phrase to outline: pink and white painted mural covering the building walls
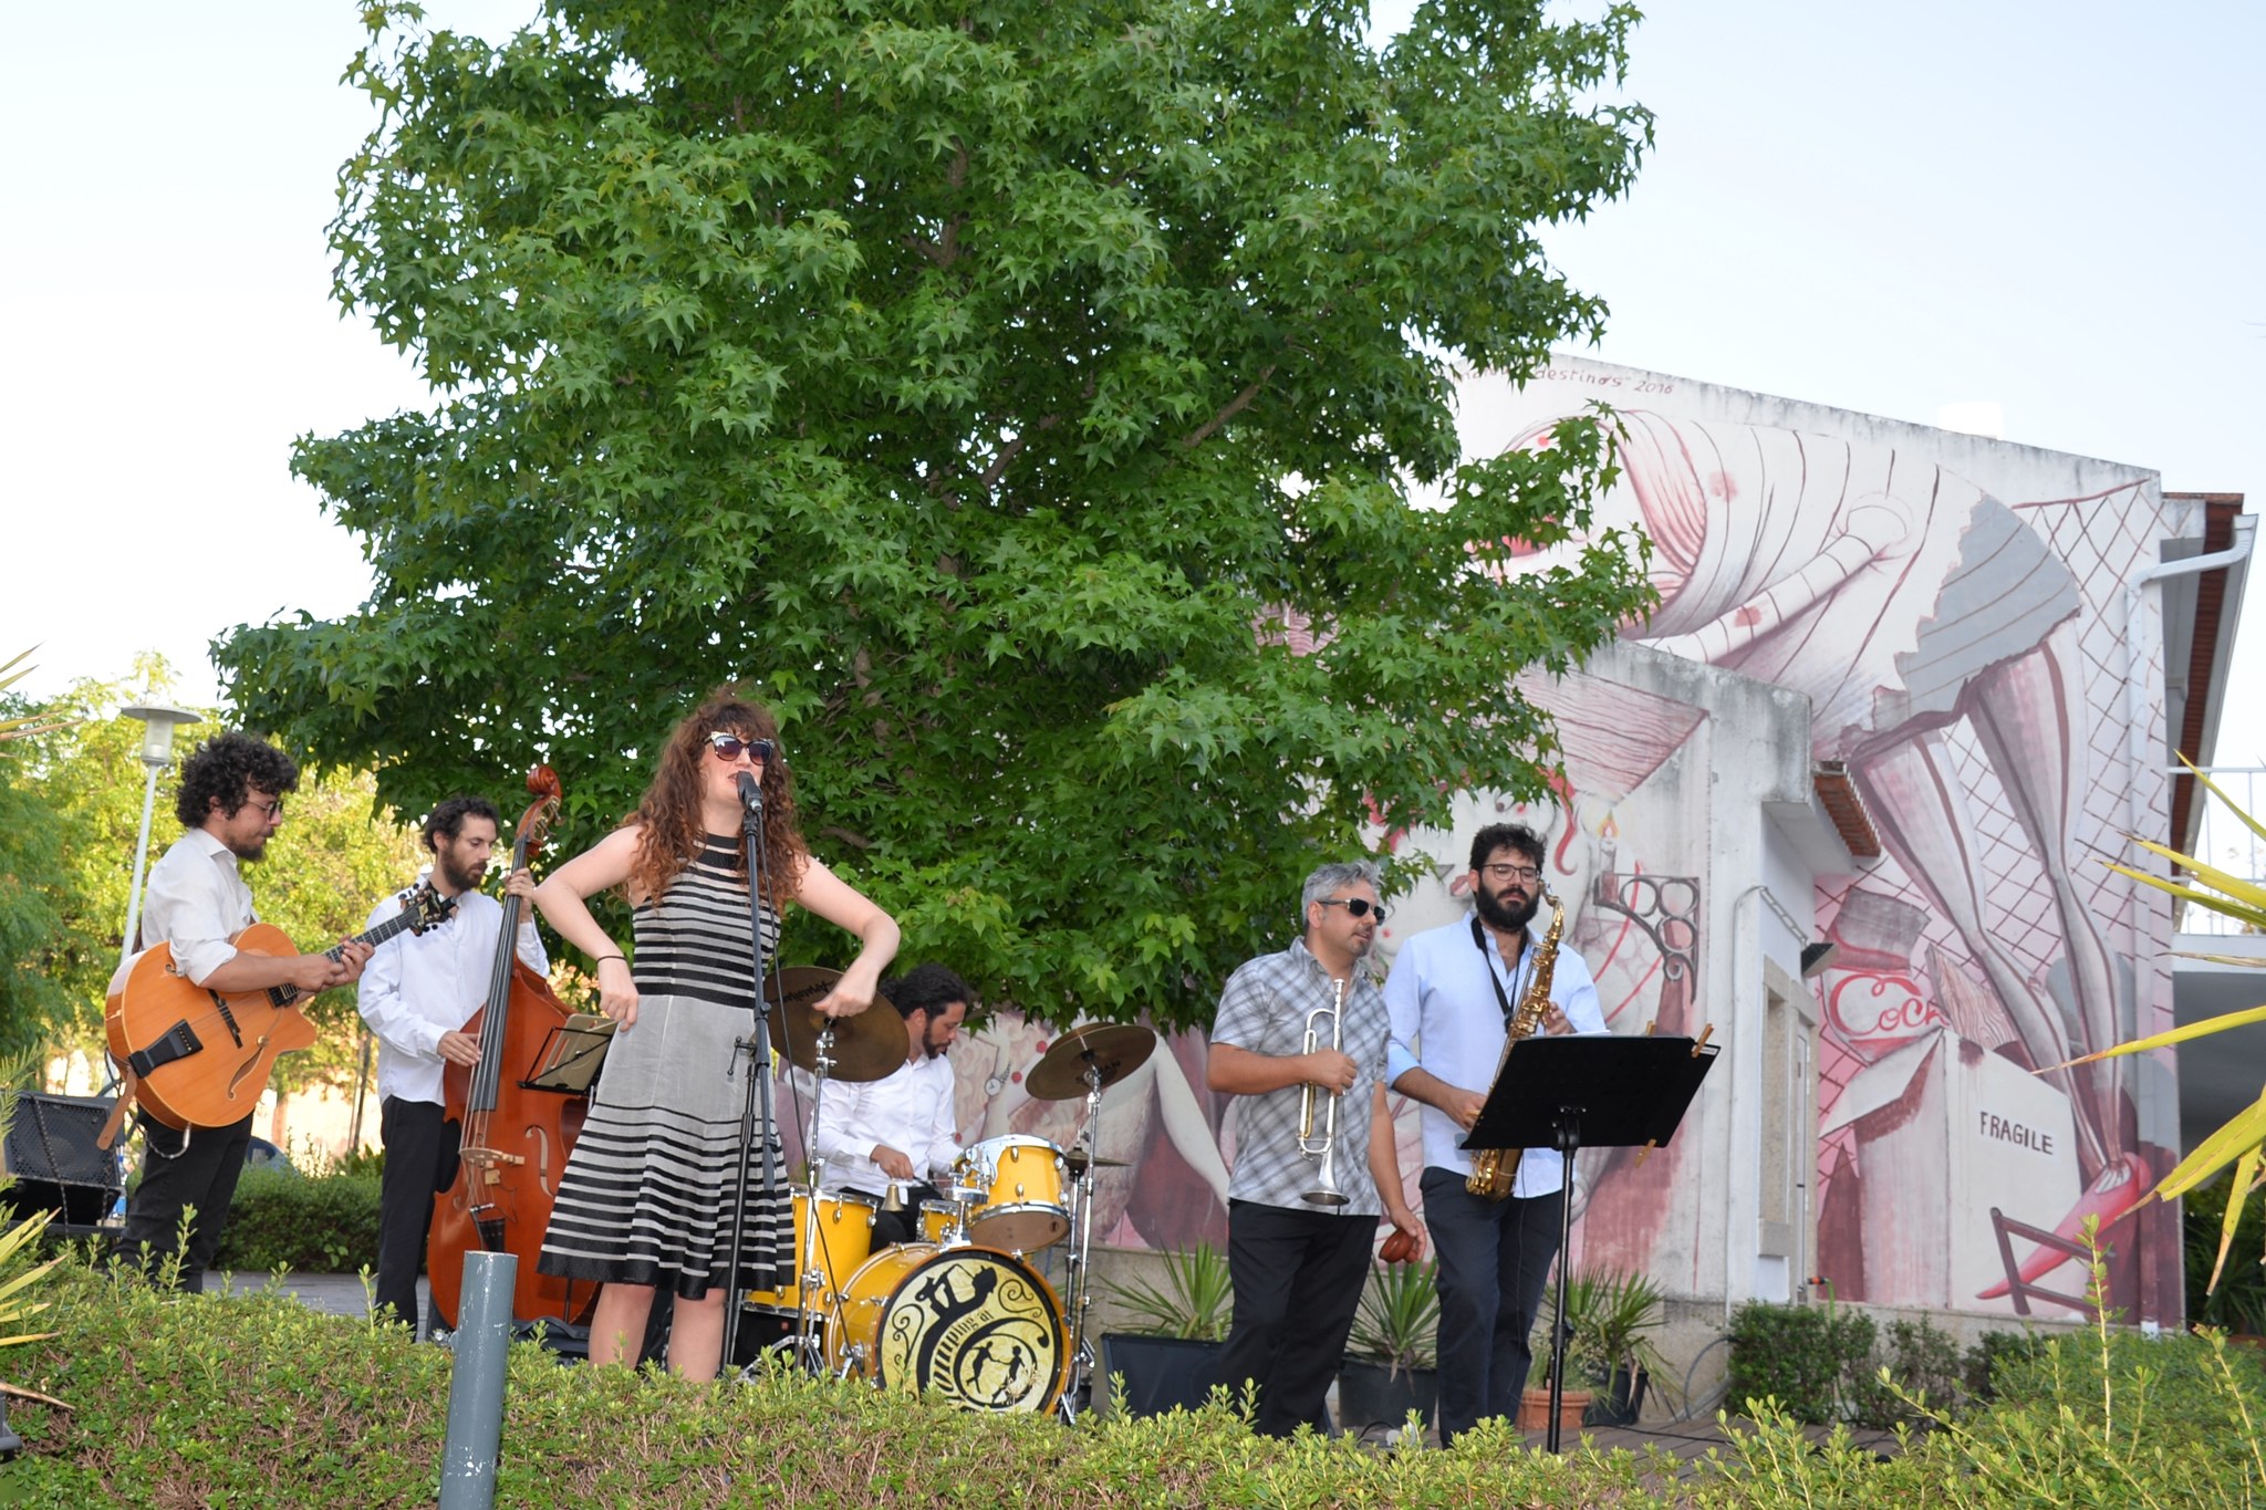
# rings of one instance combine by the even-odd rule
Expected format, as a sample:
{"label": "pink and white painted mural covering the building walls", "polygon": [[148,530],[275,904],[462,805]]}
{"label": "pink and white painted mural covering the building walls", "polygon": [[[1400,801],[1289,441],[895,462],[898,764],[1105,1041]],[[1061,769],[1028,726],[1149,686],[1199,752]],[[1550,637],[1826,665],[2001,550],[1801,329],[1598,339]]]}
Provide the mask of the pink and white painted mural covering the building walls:
{"label": "pink and white painted mural covering the building walls", "polygon": [[[2171,1023],[2169,910],[2092,863],[2128,826],[2164,826],[2162,777],[2128,754],[2128,684],[2159,720],[2162,666],[2132,663],[2121,595],[2182,532],[2155,475],[1582,360],[1525,392],[1466,385],[1466,453],[1543,446],[1593,401],[1622,423],[1602,516],[1654,541],[1661,607],[1625,638],[1801,693],[1813,761],[1847,767],[1885,849],[1786,917],[1792,935],[1838,944],[1808,983],[1822,1021],[1801,1216],[1817,1229],[1813,1275],[1842,1299],[2003,1313],[2014,1281],[2085,1284],[2062,1247],[2021,1232],[2071,1238],[2096,1216],[2114,1304],[2175,1318],[2175,1222],[2137,1209],[2175,1157],[2169,1064],[2046,1069]],[[1464,795],[1446,831],[1380,833],[1432,869],[1391,901],[1380,964],[1466,910],[1471,833],[1516,820],[1548,838],[1566,946],[1595,971],[1616,1032],[1756,1030],[1697,987],[1709,949],[1756,921],[1727,896],[1758,890],[1754,876],[1722,872],[1695,799],[1722,731],[1600,677],[1523,690],[1559,720],[1564,781],[1543,804]],[[1298,881],[1283,878],[1285,940]],[[963,1141],[1079,1136],[1083,1103],[1024,1091],[1049,1041],[1002,1014],[952,1050]],[[1226,1243],[1235,1125],[1203,1053],[1203,1035],[1174,1035],[1104,1096],[1099,1152],[1117,1164],[1097,1177],[1097,1243]],[[1724,1247],[1706,1241],[1738,1177],[1722,1168],[1720,1093],[1650,1159],[1584,1152],[1582,1261],[1641,1268],[1686,1297],[1724,1293]],[[1396,1112],[1414,1204],[1416,1116],[1398,1098]]]}

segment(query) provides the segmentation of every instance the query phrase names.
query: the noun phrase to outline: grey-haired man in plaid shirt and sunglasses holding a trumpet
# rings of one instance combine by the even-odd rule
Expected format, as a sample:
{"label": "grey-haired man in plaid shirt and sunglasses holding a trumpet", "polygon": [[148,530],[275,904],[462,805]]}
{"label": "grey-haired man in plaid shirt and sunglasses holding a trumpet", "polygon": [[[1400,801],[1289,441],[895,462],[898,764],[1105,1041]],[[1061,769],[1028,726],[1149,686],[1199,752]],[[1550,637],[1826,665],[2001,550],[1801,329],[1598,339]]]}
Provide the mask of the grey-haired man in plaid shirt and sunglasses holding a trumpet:
{"label": "grey-haired man in plaid shirt and sunglasses holding a trumpet", "polygon": [[1385,1109],[1385,996],[1366,969],[1385,908],[1378,867],[1323,865],[1298,896],[1305,930],[1242,964],[1219,996],[1206,1080],[1235,1100],[1228,1275],[1235,1327],[1219,1361],[1255,1385],[1253,1426],[1328,1431],[1323,1397],[1353,1331],[1378,1216],[1423,1247]]}

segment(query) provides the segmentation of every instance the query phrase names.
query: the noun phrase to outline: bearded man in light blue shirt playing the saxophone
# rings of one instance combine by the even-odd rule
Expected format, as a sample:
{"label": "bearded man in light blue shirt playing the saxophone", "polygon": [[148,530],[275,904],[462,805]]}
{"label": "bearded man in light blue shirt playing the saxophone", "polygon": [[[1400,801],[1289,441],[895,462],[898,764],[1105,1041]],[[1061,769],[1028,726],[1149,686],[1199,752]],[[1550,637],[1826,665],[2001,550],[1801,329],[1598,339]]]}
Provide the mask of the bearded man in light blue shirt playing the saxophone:
{"label": "bearded man in light blue shirt playing the saxophone", "polygon": [[1527,1336],[1568,1195],[1564,1159],[1550,1148],[1525,1150],[1507,1198],[1477,1195],[1466,1186],[1473,1159],[1457,1143],[1486,1103],[1530,987],[1548,980],[1536,1032],[1604,1032],[1588,964],[1570,949],[1545,960],[1545,942],[1530,933],[1543,899],[1534,831],[1480,829],[1468,883],[1475,915],[1403,942],[1385,980],[1387,1075],[1423,1107],[1423,1218],[1439,1254],[1441,1447],[1480,1417],[1518,1415],[1534,1361]]}

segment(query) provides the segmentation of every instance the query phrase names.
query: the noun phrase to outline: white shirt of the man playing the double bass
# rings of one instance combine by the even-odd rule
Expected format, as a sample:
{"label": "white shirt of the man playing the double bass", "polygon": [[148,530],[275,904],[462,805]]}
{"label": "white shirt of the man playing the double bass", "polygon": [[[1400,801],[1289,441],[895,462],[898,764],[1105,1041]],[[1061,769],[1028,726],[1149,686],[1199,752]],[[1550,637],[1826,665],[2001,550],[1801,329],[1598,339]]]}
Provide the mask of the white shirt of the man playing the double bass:
{"label": "white shirt of the man playing the double bass", "polygon": [[[369,912],[369,926],[401,912],[401,896],[387,896]],[[485,892],[460,892],[449,921],[424,933],[397,933],[378,944],[363,969],[356,1007],[378,1037],[378,1098],[442,1105],[440,1035],[458,1032],[487,998],[496,967],[496,933],[503,903]],[[535,912],[521,906],[519,958],[535,973],[548,973]]]}

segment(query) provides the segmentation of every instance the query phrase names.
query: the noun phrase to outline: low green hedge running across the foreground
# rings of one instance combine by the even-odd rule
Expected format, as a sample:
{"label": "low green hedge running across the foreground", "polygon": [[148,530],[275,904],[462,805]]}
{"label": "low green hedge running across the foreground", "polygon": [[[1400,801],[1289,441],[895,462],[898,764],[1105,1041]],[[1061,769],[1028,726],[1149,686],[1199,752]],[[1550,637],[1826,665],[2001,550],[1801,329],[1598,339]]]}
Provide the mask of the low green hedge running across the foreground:
{"label": "low green hedge running across the foreground", "polygon": [[[168,1295],[59,1266],[61,1336],[9,1354],[25,1456],[0,1505],[431,1505],[451,1354],[401,1327],[281,1293]],[[764,1376],[696,1385],[562,1367],[517,1345],[499,1505],[1419,1505],[1722,1510],[1956,1505],[2060,1510],[2255,1503],[2266,1379],[2216,1338],[2060,1338],[2001,1356],[2008,1392],[1879,1456],[1761,1408],[1697,1478],[1663,1456],[1525,1451],[1500,1424],[1448,1451],[1253,1435],[1221,1395],[1199,1413],[1049,1419],[925,1406],[863,1385]],[[2026,1390],[2014,1395],[2014,1388]]]}

